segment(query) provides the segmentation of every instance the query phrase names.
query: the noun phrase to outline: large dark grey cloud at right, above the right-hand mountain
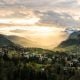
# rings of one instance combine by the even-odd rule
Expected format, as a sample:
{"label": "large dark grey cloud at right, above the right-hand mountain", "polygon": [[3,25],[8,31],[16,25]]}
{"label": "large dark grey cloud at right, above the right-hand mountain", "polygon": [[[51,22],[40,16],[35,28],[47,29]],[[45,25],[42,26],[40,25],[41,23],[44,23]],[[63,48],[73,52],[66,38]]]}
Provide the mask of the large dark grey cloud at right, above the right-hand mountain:
{"label": "large dark grey cloud at right, above the right-hand mountain", "polygon": [[40,16],[39,24],[47,24],[57,27],[77,27],[80,24],[79,20],[75,20],[73,16],[68,13],[58,13],[53,11],[43,12]]}

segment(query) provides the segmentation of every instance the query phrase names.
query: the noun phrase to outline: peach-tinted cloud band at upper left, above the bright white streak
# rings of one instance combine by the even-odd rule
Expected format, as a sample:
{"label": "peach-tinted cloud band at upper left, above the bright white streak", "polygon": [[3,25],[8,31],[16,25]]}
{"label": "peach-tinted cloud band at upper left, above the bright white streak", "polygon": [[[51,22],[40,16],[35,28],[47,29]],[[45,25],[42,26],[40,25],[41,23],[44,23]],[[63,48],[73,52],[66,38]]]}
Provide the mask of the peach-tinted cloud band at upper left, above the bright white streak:
{"label": "peach-tinted cloud band at upper left, above the bright white streak", "polygon": [[29,9],[12,9],[0,9],[0,18],[26,18],[36,16],[34,12]]}

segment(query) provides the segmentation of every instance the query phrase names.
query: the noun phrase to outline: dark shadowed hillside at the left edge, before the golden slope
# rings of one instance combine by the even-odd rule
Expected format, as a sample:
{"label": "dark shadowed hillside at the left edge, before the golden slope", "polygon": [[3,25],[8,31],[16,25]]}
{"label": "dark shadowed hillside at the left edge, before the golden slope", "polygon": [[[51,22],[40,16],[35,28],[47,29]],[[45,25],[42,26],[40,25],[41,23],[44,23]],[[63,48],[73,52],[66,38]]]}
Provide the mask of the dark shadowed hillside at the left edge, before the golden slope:
{"label": "dark shadowed hillside at the left edge, before the golden slope", "polygon": [[0,46],[12,46],[14,45],[9,39],[5,37],[5,35],[0,34]]}

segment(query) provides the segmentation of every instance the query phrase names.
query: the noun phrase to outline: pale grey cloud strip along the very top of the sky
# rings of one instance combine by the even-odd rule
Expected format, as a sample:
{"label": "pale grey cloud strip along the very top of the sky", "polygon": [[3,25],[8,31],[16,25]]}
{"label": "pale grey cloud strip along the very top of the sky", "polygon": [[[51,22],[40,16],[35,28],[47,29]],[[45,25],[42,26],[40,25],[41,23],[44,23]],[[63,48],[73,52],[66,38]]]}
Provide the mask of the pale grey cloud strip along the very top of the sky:
{"label": "pale grey cloud strip along the very top of the sky", "polygon": [[2,7],[26,7],[32,9],[80,8],[80,0],[0,0]]}

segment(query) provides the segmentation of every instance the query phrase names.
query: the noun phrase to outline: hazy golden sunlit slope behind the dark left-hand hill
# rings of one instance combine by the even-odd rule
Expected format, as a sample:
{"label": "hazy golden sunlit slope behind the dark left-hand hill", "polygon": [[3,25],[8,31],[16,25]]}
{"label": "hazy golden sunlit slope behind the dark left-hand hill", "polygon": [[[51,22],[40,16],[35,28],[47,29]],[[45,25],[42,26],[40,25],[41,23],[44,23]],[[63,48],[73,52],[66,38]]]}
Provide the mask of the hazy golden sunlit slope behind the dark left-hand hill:
{"label": "hazy golden sunlit slope behind the dark left-hand hill", "polygon": [[12,41],[13,43],[18,44],[23,47],[37,47],[38,46],[37,43],[24,37],[10,35],[10,36],[6,36],[6,38]]}

